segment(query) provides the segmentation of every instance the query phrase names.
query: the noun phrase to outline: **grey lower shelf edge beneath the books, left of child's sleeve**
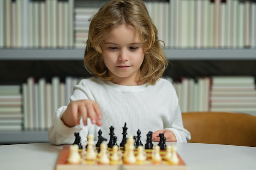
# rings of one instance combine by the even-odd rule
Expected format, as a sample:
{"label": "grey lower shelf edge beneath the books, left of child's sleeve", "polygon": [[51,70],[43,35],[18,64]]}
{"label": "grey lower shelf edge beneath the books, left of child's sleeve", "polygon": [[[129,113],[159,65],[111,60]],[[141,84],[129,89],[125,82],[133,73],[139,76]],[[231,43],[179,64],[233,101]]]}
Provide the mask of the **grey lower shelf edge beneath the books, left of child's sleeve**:
{"label": "grey lower shelf edge beneath the books, left of child's sleeve", "polygon": [[48,131],[0,131],[0,144],[49,142]]}

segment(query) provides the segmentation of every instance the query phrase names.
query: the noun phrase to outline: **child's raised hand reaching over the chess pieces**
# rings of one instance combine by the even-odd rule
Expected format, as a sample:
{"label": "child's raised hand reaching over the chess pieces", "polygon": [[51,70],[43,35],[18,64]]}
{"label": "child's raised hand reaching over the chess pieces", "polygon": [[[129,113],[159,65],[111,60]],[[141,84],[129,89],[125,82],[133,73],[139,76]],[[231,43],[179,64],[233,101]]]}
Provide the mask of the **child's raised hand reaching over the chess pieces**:
{"label": "child's raised hand reaching over the chess pieces", "polygon": [[87,125],[87,118],[91,119],[92,124],[101,126],[101,109],[97,102],[93,100],[76,100],[67,105],[61,120],[68,127],[79,124],[80,118],[83,118],[83,124]]}

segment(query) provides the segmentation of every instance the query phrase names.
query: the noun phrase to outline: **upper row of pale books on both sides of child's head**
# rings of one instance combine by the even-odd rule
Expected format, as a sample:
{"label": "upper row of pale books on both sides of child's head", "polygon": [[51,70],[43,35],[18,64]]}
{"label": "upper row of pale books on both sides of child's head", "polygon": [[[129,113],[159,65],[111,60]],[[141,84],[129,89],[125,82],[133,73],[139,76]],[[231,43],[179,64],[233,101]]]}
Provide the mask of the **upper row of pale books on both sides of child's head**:
{"label": "upper row of pale books on both sides of child's head", "polygon": [[[145,1],[166,48],[256,48],[254,0]],[[0,0],[0,48],[84,48],[99,7]]]}

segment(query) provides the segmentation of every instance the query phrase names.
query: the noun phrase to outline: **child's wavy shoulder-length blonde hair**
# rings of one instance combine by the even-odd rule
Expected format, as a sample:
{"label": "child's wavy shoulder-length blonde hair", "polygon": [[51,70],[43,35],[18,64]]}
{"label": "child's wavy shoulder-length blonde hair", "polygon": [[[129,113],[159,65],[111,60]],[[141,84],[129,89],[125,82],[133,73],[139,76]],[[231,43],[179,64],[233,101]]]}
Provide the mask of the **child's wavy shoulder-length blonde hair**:
{"label": "child's wavy shoulder-length blonde hair", "polygon": [[86,70],[95,77],[111,81],[103,61],[103,41],[112,28],[121,24],[133,26],[144,43],[144,61],[138,82],[154,85],[162,77],[168,59],[142,0],[110,0],[91,18],[84,54]]}

